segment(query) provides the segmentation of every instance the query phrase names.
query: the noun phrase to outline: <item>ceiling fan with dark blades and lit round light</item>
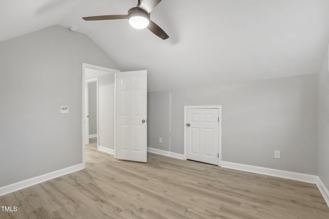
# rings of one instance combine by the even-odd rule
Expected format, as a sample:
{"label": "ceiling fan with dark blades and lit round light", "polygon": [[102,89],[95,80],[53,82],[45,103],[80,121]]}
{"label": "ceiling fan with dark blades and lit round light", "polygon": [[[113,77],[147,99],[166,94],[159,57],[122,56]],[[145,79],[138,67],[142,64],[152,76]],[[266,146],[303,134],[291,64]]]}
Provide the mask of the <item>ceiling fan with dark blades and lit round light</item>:
{"label": "ceiling fan with dark blades and lit round light", "polygon": [[169,38],[168,34],[163,31],[158,25],[151,21],[151,11],[161,2],[161,0],[143,0],[140,3],[138,0],[137,7],[131,8],[127,15],[103,15],[82,17],[85,21],[101,21],[101,20],[115,20],[115,19],[128,19],[129,24],[136,29],[148,28],[152,33],[161,39]]}

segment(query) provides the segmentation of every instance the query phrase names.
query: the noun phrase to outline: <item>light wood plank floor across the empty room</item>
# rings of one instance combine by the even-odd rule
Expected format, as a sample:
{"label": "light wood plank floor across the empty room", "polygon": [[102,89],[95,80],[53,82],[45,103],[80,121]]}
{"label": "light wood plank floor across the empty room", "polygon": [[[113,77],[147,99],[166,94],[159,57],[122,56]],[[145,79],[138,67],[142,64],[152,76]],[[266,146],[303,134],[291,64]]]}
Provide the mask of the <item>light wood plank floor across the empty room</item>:
{"label": "light wood plank floor across the empty room", "polygon": [[0,218],[329,218],[316,185],[156,154],[117,161],[86,147],[86,169],[0,197]]}

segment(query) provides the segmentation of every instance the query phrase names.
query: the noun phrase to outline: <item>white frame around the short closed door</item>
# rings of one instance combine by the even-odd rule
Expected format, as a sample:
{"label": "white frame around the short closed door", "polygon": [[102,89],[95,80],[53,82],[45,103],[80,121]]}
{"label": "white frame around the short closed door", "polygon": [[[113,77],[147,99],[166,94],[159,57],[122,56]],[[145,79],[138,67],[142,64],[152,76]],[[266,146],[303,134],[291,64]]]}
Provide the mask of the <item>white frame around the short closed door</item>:
{"label": "white frame around the short closed door", "polygon": [[220,121],[218,122],[218,166],[221,166],[222,163],[222,106],[184,106],[184,160],[187,160],[187,110],[188,109],[218,109],[218,116]]}

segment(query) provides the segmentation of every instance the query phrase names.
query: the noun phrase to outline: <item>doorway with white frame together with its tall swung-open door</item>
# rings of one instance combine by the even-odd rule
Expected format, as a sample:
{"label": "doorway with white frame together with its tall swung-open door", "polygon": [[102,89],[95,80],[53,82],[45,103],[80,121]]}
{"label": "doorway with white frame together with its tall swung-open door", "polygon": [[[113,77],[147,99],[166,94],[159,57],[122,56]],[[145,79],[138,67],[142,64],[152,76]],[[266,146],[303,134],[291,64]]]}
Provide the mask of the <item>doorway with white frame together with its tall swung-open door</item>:
{"label": "doorway with white frame together with its tall swung-open door", "polygon": [[82,67],[83,164],[89,140],[87,83],[94,81],[97,150],[114,154],[118,160],[147,162],[147,71],[120,72],[89,64]]}

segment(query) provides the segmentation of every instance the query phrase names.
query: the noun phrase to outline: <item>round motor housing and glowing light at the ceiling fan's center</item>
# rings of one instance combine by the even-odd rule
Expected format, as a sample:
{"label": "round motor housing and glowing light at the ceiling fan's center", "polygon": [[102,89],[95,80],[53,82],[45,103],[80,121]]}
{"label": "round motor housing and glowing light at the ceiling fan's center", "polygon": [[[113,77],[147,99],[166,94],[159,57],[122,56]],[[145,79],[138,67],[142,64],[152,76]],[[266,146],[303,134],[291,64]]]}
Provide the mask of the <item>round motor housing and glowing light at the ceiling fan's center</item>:
{"label": "round motor housing and glowing light at the ceiling fan's center", "polygon": [[150,24],[150,15],[140,8],[132,8],[128,11],[129,24],[136,29],[144,29]]}

